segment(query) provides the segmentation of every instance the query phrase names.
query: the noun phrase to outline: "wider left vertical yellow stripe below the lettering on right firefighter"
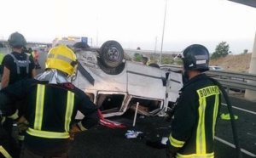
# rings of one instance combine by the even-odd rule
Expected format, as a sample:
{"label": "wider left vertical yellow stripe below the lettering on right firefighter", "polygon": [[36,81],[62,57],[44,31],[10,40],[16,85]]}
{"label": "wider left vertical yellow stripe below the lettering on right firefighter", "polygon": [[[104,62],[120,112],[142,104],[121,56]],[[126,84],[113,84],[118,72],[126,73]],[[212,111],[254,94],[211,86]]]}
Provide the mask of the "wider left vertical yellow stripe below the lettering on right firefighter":
{"label": "wider left vertical yellow stripe below the lettering on right firefighter", "polygon": [[206,131],[205,131],[205,110],[207,99],[205,97],[199,99],[199,121],[196,129],[196,153],[206,153]]}

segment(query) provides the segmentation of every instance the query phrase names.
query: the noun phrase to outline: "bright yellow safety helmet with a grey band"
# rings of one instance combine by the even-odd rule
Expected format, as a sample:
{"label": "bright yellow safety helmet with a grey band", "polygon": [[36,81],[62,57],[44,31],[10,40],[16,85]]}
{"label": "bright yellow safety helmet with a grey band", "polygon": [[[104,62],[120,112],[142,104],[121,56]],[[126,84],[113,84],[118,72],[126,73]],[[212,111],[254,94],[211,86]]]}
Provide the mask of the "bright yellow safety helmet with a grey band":
{"label": "bright yellow safety helmet with a grey band", "polygon": [[73,50],[66,45],[60,44],[49,50],[47,54],[45,69],[56,69],[72,76],[77,70],[77,57]]}

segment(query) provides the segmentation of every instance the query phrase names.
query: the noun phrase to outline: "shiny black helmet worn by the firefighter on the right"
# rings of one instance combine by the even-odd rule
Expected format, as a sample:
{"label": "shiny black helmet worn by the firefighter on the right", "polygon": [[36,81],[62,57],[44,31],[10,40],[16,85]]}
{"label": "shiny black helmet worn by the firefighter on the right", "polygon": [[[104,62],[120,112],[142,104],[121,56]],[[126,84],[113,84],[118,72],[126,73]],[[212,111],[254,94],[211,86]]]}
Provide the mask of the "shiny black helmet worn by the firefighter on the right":
{"label": "shiny black helmet worn by the firefighter on the right", "polygon": [[200,44],[193,44],[177,55],[183,59],[185,71],[209,71],[209,51]]}

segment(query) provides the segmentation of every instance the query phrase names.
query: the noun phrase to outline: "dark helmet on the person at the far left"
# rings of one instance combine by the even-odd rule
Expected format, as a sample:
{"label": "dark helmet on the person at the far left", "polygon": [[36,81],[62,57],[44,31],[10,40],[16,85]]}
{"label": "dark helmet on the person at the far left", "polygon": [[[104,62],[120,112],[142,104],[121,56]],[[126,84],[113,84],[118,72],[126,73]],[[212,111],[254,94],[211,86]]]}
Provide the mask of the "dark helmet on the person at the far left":
{"label": "dark helmet on the person at the far left", "polygon": [[23,35],[21,35],[17,31],[15,33],[12,33],[9,36],[8,42],[9,42],[9,46],[11,48],[17,48],[17,47],[22,48],[22,47],[26,46],[26,39],[25,39],[25,37],[23,37]]}

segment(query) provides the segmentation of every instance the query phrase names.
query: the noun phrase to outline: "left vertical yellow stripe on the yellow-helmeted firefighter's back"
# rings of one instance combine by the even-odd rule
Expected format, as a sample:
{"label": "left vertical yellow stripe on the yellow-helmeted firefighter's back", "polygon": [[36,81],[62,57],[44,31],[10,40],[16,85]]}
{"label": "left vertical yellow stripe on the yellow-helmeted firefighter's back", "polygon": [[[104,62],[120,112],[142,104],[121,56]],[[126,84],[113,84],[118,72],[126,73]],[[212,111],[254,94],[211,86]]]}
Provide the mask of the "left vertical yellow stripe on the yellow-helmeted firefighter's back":
{"label": "left vertical yellow stripe on the yellow-helmeted firefighter's back", "polygon": [[37,103],[35,111],[34,129],[41,130],[44,115],[44,90],[45,86],[38,84]]}

